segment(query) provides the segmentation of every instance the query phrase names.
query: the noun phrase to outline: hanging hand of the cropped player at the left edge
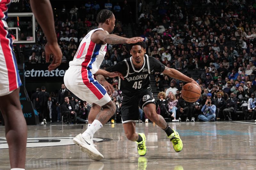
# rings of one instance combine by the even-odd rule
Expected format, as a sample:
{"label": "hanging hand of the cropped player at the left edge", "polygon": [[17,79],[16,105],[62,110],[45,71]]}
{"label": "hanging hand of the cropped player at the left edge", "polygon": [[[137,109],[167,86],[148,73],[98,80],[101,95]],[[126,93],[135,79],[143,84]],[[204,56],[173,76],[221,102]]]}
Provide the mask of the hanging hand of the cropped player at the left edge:
{"label": "hanging hand of the cropped player at the left edge", "polygon": [[50,60],[50,54],[53,54],[53,61],[48,66],[48,70],[52,71],[60,65],[61,59],[62,59],[62,52],[58,45],[58,42],[53,43],[53,44],[49,44],[48,42],[46,43],[46,45],[45,45],[46,63],[48,63]]}

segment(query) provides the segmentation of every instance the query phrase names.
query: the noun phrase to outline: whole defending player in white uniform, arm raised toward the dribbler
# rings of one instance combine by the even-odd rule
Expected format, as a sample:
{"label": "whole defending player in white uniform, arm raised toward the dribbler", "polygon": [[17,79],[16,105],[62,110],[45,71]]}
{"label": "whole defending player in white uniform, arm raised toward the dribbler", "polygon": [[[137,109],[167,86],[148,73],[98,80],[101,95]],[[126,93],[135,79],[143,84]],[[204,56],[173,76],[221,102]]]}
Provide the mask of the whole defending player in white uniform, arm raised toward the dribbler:
{"label": "whole defending player in white uniform, arm raised toward the dribbler", "polygon": [[[118,72],[110,73],[99,69],[107,51],[107,43],[130,44],[144,40],[141,37],[124,38],[115,34],[109,34],[115,27],[115,20],[112,11],[101,10],[98,13],[96,18],[96,21],[99,23],[98,28],[90,31],[81,41],[76,55],[73,61],[69,62],[69,69],[64,76],[64,83],[68,90],[80,99],[92,104],[88,118],[88,128],[83,134],[77,135],[73,141],[93,160],[100,160],[104,157],[94,147],[92,137],[116,111],[116,106],[110,99],[108,92],[94,79],[93,74],[102,74],[108,77],[123,77]],[[104,84],[104,86],[107,90],[111,88],[108,83]],[[101,107],[103,110],[101,110]],[[90,119],[90,114],[97,115],[95,120]]]}

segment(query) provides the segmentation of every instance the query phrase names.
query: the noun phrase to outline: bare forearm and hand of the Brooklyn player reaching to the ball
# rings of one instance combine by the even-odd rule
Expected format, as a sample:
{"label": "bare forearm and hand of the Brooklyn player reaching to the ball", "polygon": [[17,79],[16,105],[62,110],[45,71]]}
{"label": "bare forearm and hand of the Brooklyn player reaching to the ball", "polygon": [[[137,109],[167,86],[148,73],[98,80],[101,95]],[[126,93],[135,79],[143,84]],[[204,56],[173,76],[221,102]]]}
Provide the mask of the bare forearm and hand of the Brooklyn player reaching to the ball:
{"label": "bare forearm and hand of the Brooklyn player reaching to the ball", "polygon": [[164,69],[163,73],[167,74],[168,76],[170,76],[172,78],[176,78],[178,80],[182,80],[182,81],[185,81],[185,82],[188,82],[188,83],[195,83],[195,84],[198,85],[198,83],[194,79],[189,78],[188,76],[182,74],[178,70],[168,68],[168,67],[165,66],[165,69]]}

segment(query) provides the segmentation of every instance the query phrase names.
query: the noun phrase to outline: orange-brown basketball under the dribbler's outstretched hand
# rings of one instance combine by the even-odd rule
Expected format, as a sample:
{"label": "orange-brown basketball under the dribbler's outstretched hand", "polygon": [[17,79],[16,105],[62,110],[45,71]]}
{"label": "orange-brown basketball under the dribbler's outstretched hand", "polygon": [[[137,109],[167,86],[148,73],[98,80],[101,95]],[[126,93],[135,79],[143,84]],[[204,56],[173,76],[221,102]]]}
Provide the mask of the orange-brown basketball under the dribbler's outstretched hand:
{"label": "orange-brown basketball under the dribbler's outstretched hand", "polygon": [[181,89],[181,97],[187,102],[195,102],[201,96],[201,88],[195,83],[187,83]]}

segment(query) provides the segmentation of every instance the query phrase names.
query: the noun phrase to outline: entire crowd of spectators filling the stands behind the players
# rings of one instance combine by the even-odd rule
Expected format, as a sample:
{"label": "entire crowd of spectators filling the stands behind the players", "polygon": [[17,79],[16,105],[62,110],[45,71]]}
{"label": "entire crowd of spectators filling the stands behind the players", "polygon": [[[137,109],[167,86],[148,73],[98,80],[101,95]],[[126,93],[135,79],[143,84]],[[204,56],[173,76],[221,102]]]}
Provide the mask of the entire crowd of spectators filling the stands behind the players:
{"label": "entire crowd of spectators filling the stands behind the players", "polygon": [[[147,54],[155,57],[165,66],[180,70],[196,79],[202,88],[202,97],[199,101],[186,103],[180,97],[183,82],[154,72],[158,92],[165,92],[167,99],[173,94],[175,98],[172,97],[172,100],[177,100],[176,106],[168,107],[167,103],[166,110],[169,114],[164,114],[173,120],[180,118],[180,120],[195,121],[198,119],[197,115],[206,115],[202,109],[205,105],[206,108],[214,105],[216,107],[214,120],[255,119],[254,109],[252,110],[254,107],[251,107],[255,104],[250,103],[249,98],[256,89],[256,3],[250,0],[149,2],[151,3],[139,1],[139,11],[137,11],[139,23],[136,24],[135,30],[136,36],[145,38]],[[96,1],[86,2],[84,6],[79,8],[73,6],[69,11],[63,6],[55,19],[56,35],[63,52],[63,62],[68,63],[72,60],[82,38],[90,30],[97,28],[95,22],[97,12],[104,8],[111,9],[116,14],[116,27],[113,33],[126,36],[125,27],[130,20],[125,17],[132,13],[126,1],[116,4],[108,1],[104,7]],[[31,63],[44,63],[46,40],[40,28],[37,30],[36,40],[37,43],[31,47],[33,50],[31,56],[27,59]],[[129,57],[129,49],[125,44],[109,44],[101,68],[112,66],[127,57]],[[112,97],[113,99],[116,97],[117,100],[118,80],[108,80],[116,88],[116,95]],[[223,99],[221,106],[219,106],[219,96]],[[223,111],[223,108],[230,106],[233,98],[238,99],[233,111],[230,109]],[[251,99],[254,101],[255,97]],[[243,103],[248,103],[248,100],[248,106],[251,108],[246,107],[248,110],[246,114],[238,117],[237,111],[241,109]],[[117,108],[120,108],[118,100],[117,103]],[[175,107],[177,107],[176,116],[173,114]]]}

